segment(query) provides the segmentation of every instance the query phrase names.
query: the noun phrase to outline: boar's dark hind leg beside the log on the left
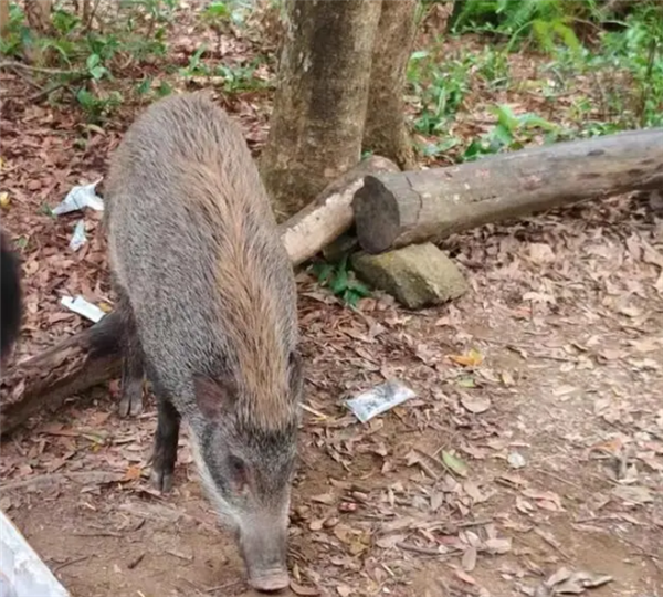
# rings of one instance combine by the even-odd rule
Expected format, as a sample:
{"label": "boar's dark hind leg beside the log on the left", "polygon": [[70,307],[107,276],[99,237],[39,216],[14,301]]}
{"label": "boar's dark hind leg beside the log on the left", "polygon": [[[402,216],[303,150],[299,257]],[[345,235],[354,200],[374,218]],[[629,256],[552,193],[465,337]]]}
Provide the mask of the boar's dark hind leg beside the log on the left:
{"label": "boar's dark hind leg beside the log on the left", "polygon": [[143,412],[143,349],[129,300],[119,287],[117,294],[117,308],[123,318],[122,388],[117,412],[123,418],[136,417]]}

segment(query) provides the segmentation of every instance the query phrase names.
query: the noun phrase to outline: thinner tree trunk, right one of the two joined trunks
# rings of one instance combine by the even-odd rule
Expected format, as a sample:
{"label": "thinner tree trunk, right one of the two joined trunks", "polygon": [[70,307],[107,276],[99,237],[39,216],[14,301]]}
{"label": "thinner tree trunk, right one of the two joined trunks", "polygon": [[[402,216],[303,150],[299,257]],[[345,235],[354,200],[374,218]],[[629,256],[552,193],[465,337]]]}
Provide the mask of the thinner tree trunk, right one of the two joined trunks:
{"label": "thinner tree trunk, right one of the two joined trunks", "polygon": [[414,169],[403,93],[415,32],[418,0],[382,0],[372,52],[364,148]]}

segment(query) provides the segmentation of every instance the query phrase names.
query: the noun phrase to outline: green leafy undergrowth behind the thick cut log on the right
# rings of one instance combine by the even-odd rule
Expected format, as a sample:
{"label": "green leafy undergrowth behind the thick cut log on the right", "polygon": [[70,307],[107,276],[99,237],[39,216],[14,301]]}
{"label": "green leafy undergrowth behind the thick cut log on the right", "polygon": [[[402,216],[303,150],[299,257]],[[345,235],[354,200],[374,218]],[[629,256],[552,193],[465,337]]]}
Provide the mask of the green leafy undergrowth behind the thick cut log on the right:
{"label": "green leafy undergrowth behind the thick cut log on the right", "polygon": [[[409,63],[422,156],[466,161],[532,143],[663,126],[660,2],[641,2],[622,20],[590,0],[456,3],[463,11],[452,32]],[[467,136],[477,114],[488,129]]]}

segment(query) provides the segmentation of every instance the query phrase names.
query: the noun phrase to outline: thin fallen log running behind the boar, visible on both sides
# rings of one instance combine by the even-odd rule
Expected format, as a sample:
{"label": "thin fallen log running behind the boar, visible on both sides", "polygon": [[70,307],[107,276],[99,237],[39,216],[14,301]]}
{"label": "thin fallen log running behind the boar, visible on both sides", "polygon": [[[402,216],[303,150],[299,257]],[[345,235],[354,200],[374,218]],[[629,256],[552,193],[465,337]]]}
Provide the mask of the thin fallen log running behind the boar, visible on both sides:
{"label": "thin fallen log running behind the boar, visible on both sides", "polygon": [[[312,258],[351,226],[350,201],[368,172],[389,171],[398,171],[392,161],[368,158],[284,222],[280,232],[293,263]],[[113,312],[45,353],[11,367],[0,377],[0,436],[44,406],[55,408],[118,375],[120,329],[119,315]]]}

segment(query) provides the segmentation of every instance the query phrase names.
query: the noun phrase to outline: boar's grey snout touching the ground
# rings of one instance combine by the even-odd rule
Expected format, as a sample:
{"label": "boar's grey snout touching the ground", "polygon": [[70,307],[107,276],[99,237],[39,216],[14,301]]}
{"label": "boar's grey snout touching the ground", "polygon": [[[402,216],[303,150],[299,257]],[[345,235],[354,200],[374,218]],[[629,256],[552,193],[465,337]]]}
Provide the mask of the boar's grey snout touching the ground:
{"label": "boar's grey snout touching the ground", "polygon": [[239,538],[249,584],[263,593],[286,589],[290,585],[286,524],[253,523],[251,528],[240,528]]}

